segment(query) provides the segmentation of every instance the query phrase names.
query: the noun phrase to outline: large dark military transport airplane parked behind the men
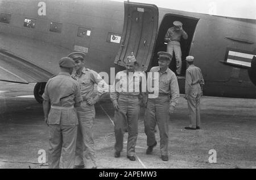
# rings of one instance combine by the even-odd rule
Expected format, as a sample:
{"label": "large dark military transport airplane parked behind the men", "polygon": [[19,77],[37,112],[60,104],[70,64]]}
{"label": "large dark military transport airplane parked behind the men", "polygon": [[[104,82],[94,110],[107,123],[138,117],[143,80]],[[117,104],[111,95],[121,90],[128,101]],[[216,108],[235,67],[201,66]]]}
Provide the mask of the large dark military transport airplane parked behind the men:
{"label": "large dark military transport airplane parked behind the men", "polygon": [[[256,98],[256,20],[164,9],[156,5],[106,0],[0,1],[0,80],[36,83],[42,103],[58,61],[72,52],[86,54],[86,68],[115,73],[133,52],[144,72],[166,51],[164,35],[179,20],[188,34],[185,57],[195,57],[205,79],[204,95]],[[175,59],[170,68],[175,72]],[[102,77],[104,78],[104,77]],[[178,77],[184,93],[185,77]],[[110,82],[112,83],[112,82]]]}

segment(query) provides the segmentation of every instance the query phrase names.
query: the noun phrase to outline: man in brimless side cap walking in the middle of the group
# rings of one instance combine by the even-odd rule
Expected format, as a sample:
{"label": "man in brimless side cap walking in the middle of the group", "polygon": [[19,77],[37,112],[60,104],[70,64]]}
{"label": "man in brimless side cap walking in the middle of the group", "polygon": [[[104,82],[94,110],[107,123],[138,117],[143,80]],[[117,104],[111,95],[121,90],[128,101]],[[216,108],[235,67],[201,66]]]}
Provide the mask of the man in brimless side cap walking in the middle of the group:
{"label": "man in brimless side cap walking in the middle of the group", "polygon": [[126,70],[118,72],[115,76],[114,89],[110,93],[113,102],[115,153],[114,157],[120,157],[123,149],[123,133],[127,121],[128,140],[127,158],[135,161],[135,145],[138,136],[139,104],[143,104],[143,91],[146,93],[146,76],[141,72],[135,72],[137,60],[134,56],[128,56],[125,61]]}

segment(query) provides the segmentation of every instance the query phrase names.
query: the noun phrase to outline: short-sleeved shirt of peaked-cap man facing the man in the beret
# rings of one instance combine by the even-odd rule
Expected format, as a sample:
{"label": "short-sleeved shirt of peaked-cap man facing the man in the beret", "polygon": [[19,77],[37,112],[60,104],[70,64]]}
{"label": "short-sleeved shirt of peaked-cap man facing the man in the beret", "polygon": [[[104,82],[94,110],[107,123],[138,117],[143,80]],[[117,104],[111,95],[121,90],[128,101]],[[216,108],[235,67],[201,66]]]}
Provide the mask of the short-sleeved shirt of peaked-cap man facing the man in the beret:
{"label": "short-sleeved shirt of peaked-cap man facing the man in the beret", "polygon": [[93,97],[95,84],[98,85],[98,94],[104,94],[106,89],[108,89],[108,85],[106,84],[106,82],[94,70],[83,68],[80,75],[75,72],[72,74],[72,77],[75,77],[79,82],[81,88],[81,95],[84,99],[89,99]]}

